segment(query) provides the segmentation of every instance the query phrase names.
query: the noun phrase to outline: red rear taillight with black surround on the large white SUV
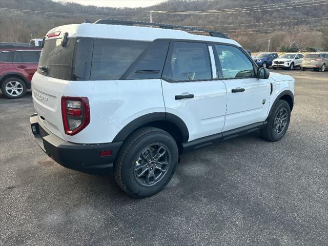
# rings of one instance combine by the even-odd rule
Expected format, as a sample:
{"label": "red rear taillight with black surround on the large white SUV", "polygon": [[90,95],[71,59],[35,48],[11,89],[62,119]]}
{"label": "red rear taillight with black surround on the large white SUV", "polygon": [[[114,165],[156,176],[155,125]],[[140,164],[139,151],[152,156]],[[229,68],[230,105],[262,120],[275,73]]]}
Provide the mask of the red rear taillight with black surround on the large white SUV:
{"label": "red rear taillight with black surround on the large white SUV", "polygon": [[61,115],[65,134],[75,135],[90,123],[90,107],[87,97],[61,97]]}

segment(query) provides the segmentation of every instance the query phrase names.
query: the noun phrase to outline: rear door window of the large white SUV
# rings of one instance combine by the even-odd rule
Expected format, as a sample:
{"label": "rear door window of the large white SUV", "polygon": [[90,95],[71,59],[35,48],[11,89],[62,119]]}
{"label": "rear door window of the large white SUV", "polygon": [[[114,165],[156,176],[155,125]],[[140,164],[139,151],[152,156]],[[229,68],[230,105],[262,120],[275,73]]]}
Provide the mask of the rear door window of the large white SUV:
{"label": "rear door window of the large white SUV", "polygon": [[169,81],[194,81],[212,79],[210,56],[207,44],[173,42],[172,54],[168,57]]}

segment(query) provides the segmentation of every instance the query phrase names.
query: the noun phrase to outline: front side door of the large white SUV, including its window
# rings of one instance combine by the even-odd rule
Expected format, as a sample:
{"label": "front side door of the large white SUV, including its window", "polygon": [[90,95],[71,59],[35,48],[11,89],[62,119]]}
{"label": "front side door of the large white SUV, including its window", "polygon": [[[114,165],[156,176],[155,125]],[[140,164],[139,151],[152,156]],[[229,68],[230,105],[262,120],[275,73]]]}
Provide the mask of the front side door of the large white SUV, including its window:
{"label": "front side door of the large white SUV, including its window", "polygon": [[227,87],[227,113],[223,131],[247,126],[265,119],[269,109],[269,79],[258,79],[256,67],[241,49],[214,45],[217,66]]}

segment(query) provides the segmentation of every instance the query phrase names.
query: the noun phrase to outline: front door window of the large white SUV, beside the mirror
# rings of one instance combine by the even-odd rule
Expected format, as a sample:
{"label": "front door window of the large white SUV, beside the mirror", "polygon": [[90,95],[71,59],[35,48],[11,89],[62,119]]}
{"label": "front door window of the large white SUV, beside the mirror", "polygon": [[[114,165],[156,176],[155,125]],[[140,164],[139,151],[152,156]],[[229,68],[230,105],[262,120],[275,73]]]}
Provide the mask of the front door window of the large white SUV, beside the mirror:
{"label": "front door window of the large white SUV, beside the mirror", "polygon": [[254,67],[249,58],[238,48],[215,45],[224,79],[254,77]]}

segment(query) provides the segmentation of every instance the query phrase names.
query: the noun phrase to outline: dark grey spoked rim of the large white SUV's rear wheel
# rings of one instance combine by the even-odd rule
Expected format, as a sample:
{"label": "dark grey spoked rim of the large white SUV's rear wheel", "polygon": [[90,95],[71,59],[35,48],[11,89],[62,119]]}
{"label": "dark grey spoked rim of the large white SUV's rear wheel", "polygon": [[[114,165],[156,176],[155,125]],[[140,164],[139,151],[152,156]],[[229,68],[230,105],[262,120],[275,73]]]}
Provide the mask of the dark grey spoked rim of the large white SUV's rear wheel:
{"label": "dark grey spoked rim of the large white SUV's rear wheel", "polygon": [[134,162],[134,177],[141,186],[154,186],[168,172],[171,156],[163,145],[151,145]]}

